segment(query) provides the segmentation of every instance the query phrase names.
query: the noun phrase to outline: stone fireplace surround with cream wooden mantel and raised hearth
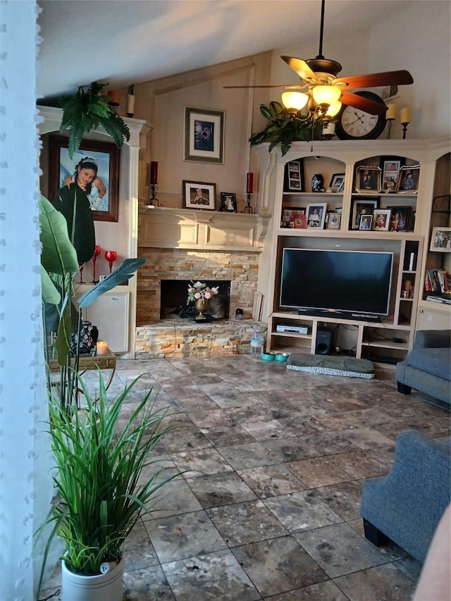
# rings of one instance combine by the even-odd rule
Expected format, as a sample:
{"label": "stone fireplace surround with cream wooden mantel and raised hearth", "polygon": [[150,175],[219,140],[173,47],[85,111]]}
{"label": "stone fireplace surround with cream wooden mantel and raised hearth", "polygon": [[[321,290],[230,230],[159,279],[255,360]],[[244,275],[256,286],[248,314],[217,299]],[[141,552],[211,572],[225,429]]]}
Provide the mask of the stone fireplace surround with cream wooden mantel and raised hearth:
{"label": "stone fireplace surround with cream wooden mantel and raised hearth", "polygon": [[[255,214],[140,209],[137,256],[147,261],[137,275],[135,357],[249,352],[254,331],[264,327],[252,320],[252,306],[268,221]],[[230,319],[161,319],[162,280],[230,281]]]}

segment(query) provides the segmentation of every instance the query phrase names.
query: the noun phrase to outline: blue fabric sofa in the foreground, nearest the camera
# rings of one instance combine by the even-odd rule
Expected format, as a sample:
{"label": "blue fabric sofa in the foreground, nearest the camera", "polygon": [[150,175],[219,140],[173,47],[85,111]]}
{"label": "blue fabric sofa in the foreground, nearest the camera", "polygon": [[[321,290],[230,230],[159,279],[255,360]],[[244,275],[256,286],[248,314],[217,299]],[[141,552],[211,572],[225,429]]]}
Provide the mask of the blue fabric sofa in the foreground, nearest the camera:
{"label": "blue fabric sofa in the foreground, nearest the camera", "polygon": [[388,539],[424,562],[440,518],[450,503],[451,440],[416,430],[398,435],[388,476],[362,483],[364,532],[376,546]]}

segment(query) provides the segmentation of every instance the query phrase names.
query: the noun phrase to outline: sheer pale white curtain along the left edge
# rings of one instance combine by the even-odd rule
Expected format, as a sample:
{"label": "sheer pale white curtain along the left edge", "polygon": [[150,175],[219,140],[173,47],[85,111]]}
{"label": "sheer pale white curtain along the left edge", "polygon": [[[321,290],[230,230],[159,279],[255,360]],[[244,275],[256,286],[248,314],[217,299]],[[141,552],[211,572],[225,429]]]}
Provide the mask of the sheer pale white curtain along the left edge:
{"label": "sheer pale white curtain along the left edge", "polygon": [[[0,597],[35,598],[49,510],[37,199],[37,4],[1,2],[0,77]],[[50,562],[51,563],[51,562]],[[50,567],[53,567],[50,565]]]}

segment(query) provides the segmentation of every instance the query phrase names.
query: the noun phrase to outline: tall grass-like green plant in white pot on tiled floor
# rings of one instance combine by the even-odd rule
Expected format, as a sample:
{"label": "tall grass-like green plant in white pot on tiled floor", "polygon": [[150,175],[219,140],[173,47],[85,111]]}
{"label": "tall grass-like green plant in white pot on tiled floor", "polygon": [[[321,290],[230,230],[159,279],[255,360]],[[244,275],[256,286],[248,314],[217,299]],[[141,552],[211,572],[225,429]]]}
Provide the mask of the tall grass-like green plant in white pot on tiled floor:
{"label": "tall grass-like green plant in white pot on tiled floor", "polygon": [[51,396],[49,433],[56,497],[42,526],[53,524],[44,563],[58,535],[65,546],[63,601],[122,600],[125,538],[140,516],[152,511],[156,492],[178,475],[165,476],[161,460],[151,457],[156,442],[171,429],[163,427],[166,411],[154,409],[152,391],[135,404],[125,423],[120,421],[123,404],[129,402],[140,377],[110,402],[99,373],[94,402],[77,375],[87,403],[83,412],[69,414],[60,399]]}

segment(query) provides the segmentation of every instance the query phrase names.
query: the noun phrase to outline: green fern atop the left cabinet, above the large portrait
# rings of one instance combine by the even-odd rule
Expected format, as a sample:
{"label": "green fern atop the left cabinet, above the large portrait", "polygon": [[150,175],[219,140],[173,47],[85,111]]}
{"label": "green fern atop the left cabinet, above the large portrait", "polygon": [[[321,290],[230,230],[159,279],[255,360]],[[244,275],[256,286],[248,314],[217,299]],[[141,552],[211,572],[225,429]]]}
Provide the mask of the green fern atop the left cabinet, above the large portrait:
{"label": "green fern atop the left cabinet, above the large portrait", "polygon": [[69,156],[80,148],[82,137],[100,126],[109,134],[118,148],[130,140],[130,130],[113,106],[109,106],[108,94],[101,94],[108,83],[92,82],[87,89],[80,86],[75,94],[64,96],[59,104],[63,109],[60,132],[68,131]]}

